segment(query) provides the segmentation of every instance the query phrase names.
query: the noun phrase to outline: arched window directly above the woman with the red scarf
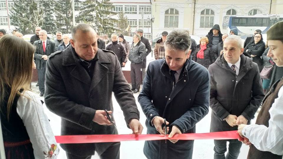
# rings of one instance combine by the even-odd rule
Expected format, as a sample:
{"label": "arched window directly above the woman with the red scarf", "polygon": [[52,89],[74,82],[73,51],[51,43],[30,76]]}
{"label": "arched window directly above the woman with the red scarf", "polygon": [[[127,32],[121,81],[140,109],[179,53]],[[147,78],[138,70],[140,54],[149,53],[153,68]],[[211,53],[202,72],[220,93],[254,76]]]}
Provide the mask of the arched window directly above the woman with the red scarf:
{"label": "arched window directly above the woman with the red scarf", "polygon": [[200,28],[213,27],[214,11],[211,9],[204,9],[200,12]]}

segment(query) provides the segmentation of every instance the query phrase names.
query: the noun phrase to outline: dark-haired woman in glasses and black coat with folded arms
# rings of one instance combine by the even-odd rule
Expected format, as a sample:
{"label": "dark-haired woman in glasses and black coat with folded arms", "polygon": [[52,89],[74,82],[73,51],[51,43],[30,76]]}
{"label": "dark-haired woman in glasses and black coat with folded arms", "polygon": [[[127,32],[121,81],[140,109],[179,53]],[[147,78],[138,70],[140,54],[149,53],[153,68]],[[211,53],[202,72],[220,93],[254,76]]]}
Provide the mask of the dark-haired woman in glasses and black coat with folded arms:
{"label": "dark-haired woman in glasses and black coat with folded arms", "polygon": [[251,41],[247,46],[244,48],[244,51],[247,52],[253,58],[253,62],[257,63],[259,66],[259,71],[263,69],[263,60],[261,59],[261,55],[264,53],[265,44],[263,42],[263,38],[261,33],[256,33],[254,35],[254,40]]}

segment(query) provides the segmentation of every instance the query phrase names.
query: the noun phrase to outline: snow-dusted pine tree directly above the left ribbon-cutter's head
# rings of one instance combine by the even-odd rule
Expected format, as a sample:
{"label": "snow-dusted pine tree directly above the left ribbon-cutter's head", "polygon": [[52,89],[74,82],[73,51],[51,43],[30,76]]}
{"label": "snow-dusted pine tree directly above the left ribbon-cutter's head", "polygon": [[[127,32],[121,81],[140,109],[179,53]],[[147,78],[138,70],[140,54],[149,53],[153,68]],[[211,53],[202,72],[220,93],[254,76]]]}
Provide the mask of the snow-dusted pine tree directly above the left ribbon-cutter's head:
{"label": "snow-dusted pine tree directly above the left ribbon-cutter's head", "polygon": [[110,0],[82,1],[83,6],[79,9],[80,12],[77,19],[90,24],[95,30],[100,32],[100,34],[108,34],[108,36],[110,36],[116,30],[113,22],[117,21],[117,19],[113,19],[111,16],[117,13],[111,11],[114,6],[109,1]]}

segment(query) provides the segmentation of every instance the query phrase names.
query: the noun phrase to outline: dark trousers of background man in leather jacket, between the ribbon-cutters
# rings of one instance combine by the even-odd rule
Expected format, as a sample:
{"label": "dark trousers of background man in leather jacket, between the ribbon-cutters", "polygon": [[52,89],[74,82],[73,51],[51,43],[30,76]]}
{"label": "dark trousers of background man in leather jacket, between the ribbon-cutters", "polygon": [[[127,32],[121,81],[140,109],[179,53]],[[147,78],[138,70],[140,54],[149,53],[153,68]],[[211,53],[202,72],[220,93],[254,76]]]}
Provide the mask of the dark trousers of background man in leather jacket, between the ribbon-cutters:
{"label": "dark trousers of background man in leather jacket, between the ribbon-cutters", "polygon": [[140,63],[131,63],[131,83],[132,88],[139,90],[141,87],[141,64]]}

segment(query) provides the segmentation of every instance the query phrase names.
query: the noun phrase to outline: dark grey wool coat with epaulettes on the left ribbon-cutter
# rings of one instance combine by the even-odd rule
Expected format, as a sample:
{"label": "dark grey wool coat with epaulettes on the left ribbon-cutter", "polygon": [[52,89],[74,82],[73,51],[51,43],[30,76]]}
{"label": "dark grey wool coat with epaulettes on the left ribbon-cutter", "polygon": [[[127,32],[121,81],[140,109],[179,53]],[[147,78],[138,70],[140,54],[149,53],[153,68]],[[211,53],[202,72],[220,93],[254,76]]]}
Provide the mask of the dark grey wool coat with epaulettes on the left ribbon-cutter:
{"label": "dark grey wool coat with epaulettes on the left ribbon-cutter", "polygon": [[[112,92],[124,112],[129,127],[139,119],[135,98],[113,52],[98,49],[93,78],[80,64],[73,47],[52,54],[46,65],[45,103],[61,117],[61,135],[118,134],[114,125],[93,122],[96,110],[111,110]],[[113,115],[112,119],[114,120]],[[78,156],[104,152],[112,143],[60,144],[67,153]]]}

